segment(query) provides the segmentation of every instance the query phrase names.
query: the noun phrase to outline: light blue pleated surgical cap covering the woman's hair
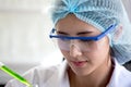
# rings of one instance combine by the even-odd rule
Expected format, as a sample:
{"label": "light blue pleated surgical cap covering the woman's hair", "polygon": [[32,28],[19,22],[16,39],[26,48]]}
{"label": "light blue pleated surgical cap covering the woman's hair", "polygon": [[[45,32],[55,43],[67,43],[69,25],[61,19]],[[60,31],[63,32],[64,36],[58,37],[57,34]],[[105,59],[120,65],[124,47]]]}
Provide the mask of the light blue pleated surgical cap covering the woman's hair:
{"label": "light blue pleated surgical cap covering the woman's hair", "polygon": [[[110,25],[122,23],[128,25],[127,23],[129,23],[123,17],[126,14],[120,0],[56,0],[51,10],[53,24],[56,25],[59,20],[68,14],[74,14],[81,21],[93,25],[100,32],[104,32]],[[127,36],[126,28],[129,27],[123,26],[121,37],[117,41],[114,39],[117,33],[108,35],[112,55],[122,64],[131,59],[131,42],[127,42],[127,40],[123,42],[123,39],[127,39],[124,37]]]}

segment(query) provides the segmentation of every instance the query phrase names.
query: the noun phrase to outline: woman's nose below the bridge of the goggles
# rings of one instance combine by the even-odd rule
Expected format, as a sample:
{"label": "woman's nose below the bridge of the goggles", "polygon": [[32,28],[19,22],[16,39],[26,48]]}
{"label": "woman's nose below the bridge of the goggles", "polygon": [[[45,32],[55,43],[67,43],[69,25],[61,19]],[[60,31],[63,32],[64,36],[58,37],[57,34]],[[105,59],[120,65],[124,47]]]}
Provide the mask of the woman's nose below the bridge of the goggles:
{"label": "woman's nose below the bridge of the goggles", "polygon": [[73,58],[82,55],[81,49],[76,45],[70,46],[70,55]]}

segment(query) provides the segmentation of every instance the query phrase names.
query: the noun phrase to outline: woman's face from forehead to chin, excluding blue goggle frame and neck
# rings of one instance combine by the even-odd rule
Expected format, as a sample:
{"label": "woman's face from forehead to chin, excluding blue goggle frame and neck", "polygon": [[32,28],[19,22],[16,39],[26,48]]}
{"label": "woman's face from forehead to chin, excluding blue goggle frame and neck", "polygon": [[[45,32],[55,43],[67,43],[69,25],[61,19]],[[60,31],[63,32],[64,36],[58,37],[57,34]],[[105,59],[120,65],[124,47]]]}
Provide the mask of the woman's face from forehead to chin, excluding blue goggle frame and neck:
{"label": "woman's face from forehead to chin, excluding blue goggle frame and neck", "polygon": [[[97,36],[100,32],[94,26],[76,18],[73,14],[69,14],[60,20],[56,25],[57,34],[62,36],[92,37]],[[91,48],[94,44],[94,47]],[[104,70],[109,58],[109,40],[105,36],[98,41],[90,41],[81,45],[81,40],[71,40],[69,50],[61,49],[68,64],[76,75],[88,75],[97,70]],[[62,46],[64,48],[64,45]],[[67,47],[66,47],[67,48]],[[86,50],[88,49],[88,50]]]}

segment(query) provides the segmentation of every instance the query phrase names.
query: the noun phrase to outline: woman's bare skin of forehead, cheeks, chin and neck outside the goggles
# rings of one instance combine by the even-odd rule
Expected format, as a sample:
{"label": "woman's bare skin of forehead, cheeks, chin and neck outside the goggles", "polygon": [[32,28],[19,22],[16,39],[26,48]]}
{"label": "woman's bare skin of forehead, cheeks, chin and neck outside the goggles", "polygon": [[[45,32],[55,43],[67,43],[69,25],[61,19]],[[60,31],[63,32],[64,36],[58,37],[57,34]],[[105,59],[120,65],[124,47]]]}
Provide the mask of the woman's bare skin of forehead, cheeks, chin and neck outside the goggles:
{"label": "woman's bare skin of forehead, cheeks, chin and neck outside the goggles", "polygon": [[[60,20],[57,33],[66,36],[96,36],[100,32],[79,20],[73,14]],[[71,87],[106,87],[109,83],[112,65],[110,58],[109,39],[107,36],[96,41],[97,48],[91,51],[82,51],[79,46],[71,45],[70,50],[61,50],[69,64],[69,80]]]}

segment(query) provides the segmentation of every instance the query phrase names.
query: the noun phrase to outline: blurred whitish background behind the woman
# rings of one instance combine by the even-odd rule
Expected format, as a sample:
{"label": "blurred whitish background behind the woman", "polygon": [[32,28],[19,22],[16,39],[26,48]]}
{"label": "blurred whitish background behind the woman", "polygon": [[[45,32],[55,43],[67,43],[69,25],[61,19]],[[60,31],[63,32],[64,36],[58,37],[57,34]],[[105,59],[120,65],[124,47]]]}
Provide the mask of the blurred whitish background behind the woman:
{"label": "blurred whitish background behind the woman", "polygon": [[[53,27],[49,16],[51,1],[0,0],[0,61],[19,74],[62,60],[48,37]],[[123,4],[131,21],[131,0],[123,0]],[[11,78],[0,71],[1,85]]]}

